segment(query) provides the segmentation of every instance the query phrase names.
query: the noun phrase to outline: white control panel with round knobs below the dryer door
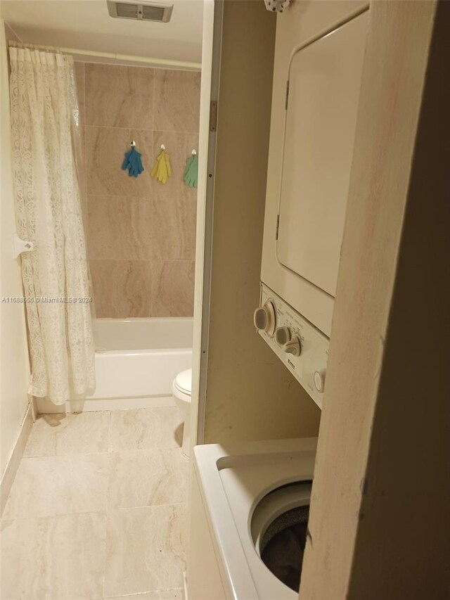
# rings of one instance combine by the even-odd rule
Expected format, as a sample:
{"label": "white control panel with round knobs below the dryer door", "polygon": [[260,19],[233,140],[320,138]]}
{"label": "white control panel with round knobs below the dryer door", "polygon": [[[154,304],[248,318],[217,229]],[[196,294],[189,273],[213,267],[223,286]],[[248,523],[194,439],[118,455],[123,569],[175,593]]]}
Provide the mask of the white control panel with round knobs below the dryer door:
{"label": "white control panel with round knobs below the dryer door", "polygon": [[311,398],[322,408],[330,340],[261,284],[255,327]]}

